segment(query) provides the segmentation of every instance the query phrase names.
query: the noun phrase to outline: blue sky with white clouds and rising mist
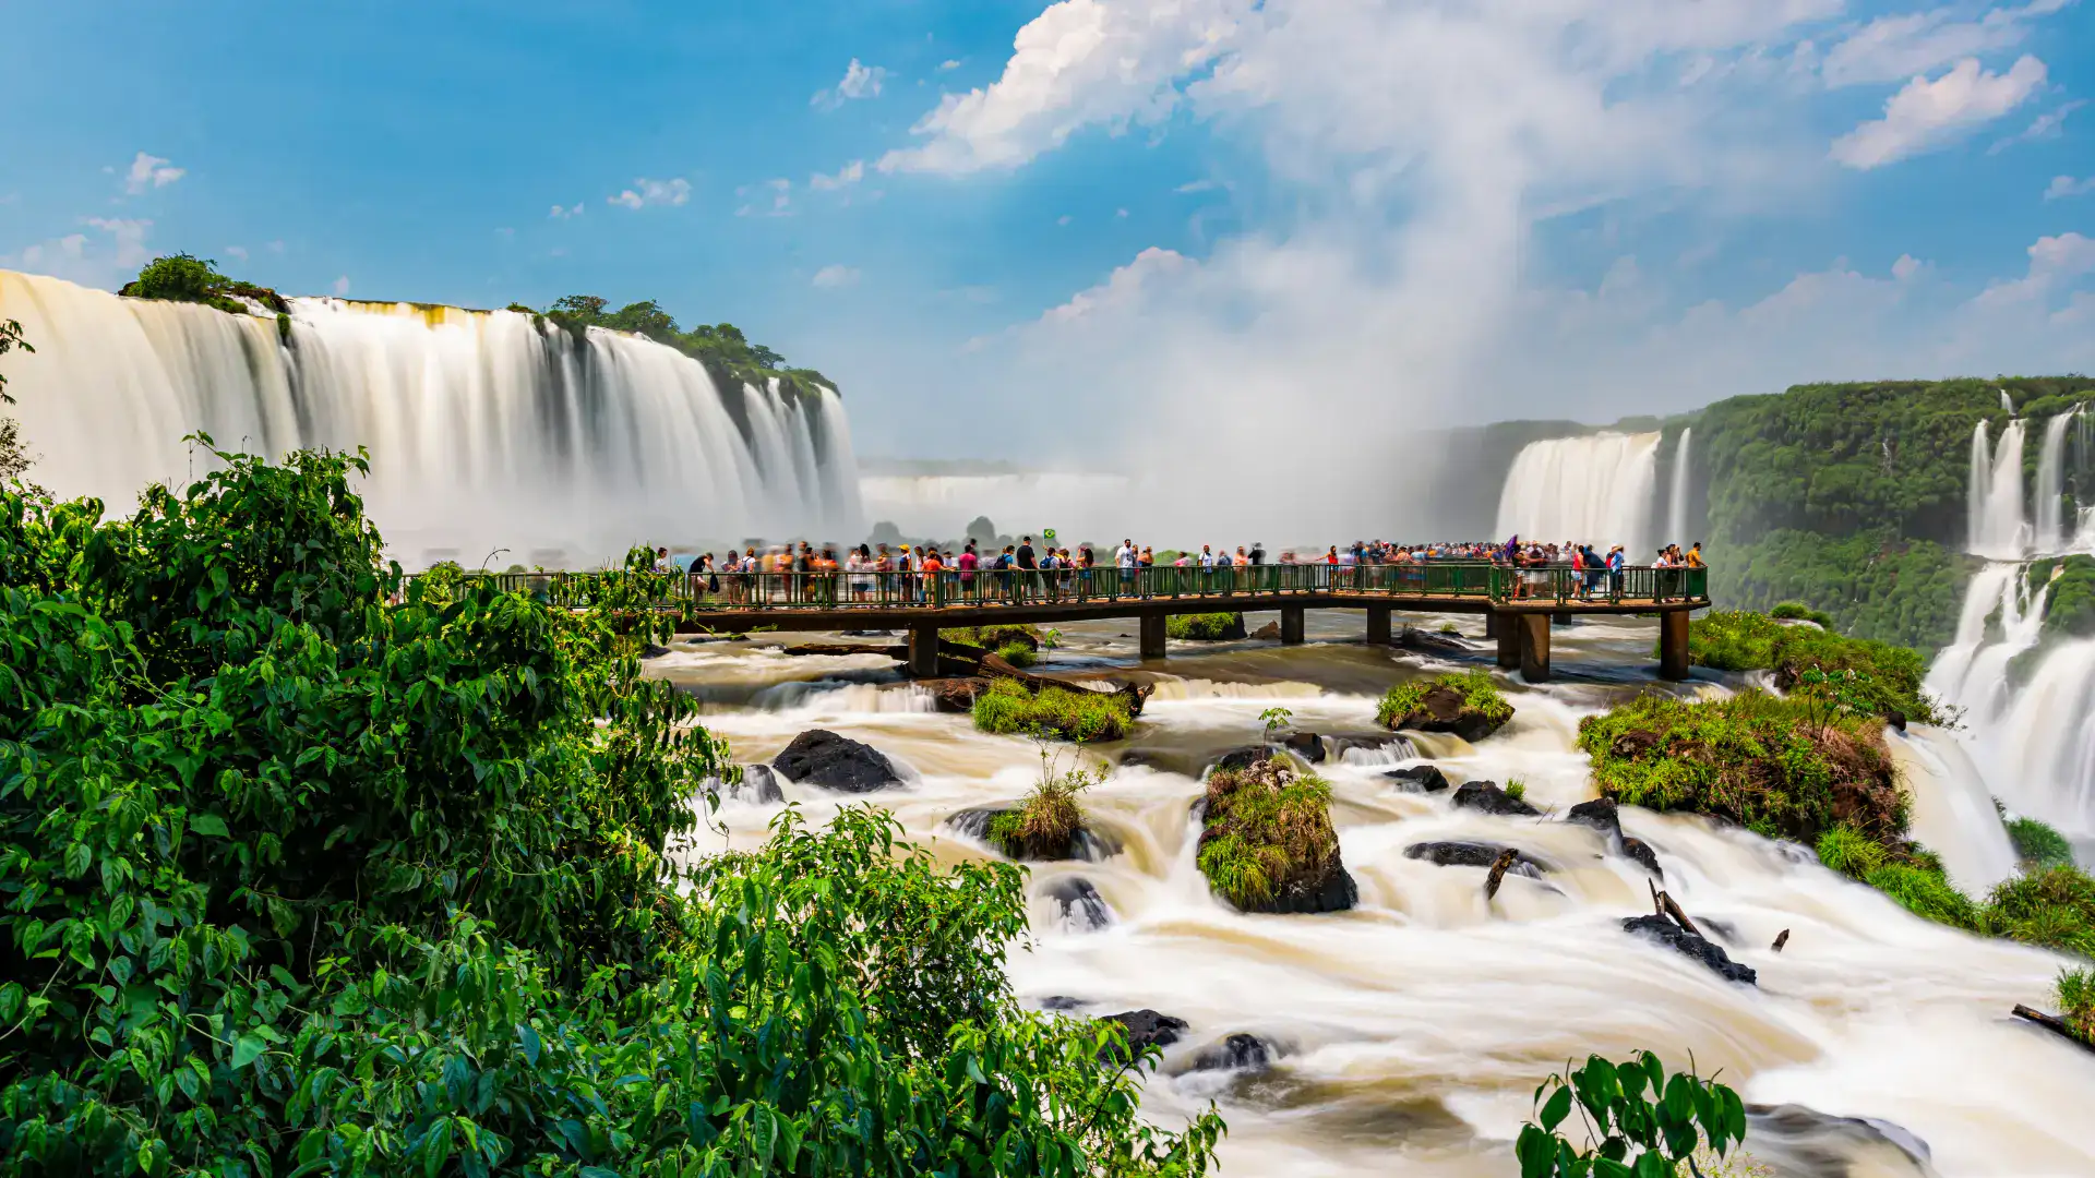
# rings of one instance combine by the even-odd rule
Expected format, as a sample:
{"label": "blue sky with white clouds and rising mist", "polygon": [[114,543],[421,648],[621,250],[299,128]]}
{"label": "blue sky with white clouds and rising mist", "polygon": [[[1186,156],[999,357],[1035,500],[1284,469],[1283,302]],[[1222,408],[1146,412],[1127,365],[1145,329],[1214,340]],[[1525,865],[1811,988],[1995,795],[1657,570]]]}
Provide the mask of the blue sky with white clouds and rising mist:
{"label": "blue sky with white clouds and rising mist", "polygon": [[2091,94],[2070,0],[40,4],[0,264],[656,298],[884,455],[1372,455],[2095,371]]}

